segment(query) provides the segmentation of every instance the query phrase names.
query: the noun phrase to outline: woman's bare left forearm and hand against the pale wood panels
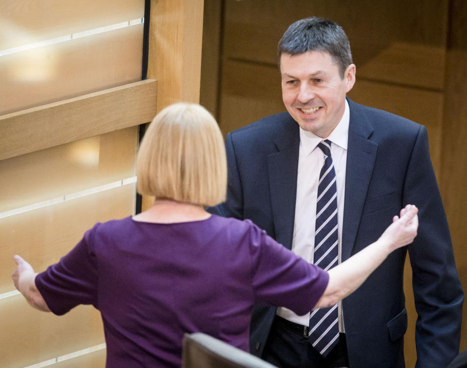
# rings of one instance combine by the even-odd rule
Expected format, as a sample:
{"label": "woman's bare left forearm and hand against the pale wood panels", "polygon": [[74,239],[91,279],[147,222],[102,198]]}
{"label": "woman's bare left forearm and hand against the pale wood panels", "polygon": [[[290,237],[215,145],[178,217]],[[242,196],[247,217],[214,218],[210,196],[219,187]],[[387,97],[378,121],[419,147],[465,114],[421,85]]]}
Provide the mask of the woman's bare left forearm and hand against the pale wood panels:
{"label": "woman's bare left forearm and hand against the pale wood panels", "polygon": [[33,267],[18,255],[13,258],[18,266],[11,278],[18,291],[32,307],[39,311],[50,312],[44,298],[42,298],[42,295],[40,295],[39,290],[36,288],[34,280],[37,274],[34,272]]}

